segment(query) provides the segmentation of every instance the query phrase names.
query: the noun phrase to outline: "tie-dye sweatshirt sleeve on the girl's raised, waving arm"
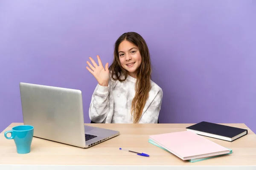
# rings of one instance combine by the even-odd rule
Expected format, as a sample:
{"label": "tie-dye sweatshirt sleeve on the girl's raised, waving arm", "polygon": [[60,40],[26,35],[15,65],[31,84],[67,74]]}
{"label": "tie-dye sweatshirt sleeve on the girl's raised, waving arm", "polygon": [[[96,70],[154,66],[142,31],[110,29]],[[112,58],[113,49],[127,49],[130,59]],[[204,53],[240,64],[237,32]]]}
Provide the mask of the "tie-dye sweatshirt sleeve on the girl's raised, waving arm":
{"label": "tie-dye sweatshirt sleeve on the girl's raised, waving arm", "polygon": [[97,84],[89,108],[90,120],[95,123],[102,123],[109,111],[109,90],[110,86],[101,86]]}

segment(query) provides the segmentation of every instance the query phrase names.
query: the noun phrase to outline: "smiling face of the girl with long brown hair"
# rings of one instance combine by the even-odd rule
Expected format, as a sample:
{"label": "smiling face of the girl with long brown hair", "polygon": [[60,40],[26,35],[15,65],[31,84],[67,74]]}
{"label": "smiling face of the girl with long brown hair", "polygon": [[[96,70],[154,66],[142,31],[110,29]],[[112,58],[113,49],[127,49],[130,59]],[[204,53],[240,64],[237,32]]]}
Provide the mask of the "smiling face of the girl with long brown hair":
{"label": "smiling face of the girl with long brown hair", "polygon": [[137,77],[137,70],[141,65],[139,48],[133,43],[124,40],[118,47],[118,56],[122,67],[131,77]]}

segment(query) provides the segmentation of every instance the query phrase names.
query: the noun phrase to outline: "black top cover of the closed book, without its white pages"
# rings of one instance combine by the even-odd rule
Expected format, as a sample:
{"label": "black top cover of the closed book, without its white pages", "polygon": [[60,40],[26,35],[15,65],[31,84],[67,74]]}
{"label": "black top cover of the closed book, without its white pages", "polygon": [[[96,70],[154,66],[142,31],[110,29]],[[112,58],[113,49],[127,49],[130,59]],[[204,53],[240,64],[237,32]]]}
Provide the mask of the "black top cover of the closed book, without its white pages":
{"label": "black top cover of the closed book, without its white pages", "polygon": [[233,138],[234,136],[237,136],[243,133],[244,131],[246,131],[246,134],[247,134],[247,129],[241,129],[238,127],[231,127],[226,125],[219,125],[219,124],[210,123],[210,122],[200,122],[195,125],[186,127],[186,129],[197,130],[205,133],[225,136],[228,138]]}

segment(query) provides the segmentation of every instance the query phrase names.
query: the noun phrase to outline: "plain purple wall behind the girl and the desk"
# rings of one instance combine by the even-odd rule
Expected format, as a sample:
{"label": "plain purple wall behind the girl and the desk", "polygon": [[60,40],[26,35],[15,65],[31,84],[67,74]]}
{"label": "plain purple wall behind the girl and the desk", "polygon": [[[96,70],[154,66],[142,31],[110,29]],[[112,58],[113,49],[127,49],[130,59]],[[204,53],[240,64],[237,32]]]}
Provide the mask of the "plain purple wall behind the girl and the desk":
{"label": "plain purple wall behind the girl and the desk", "polygon": [[1,0],[0,131],[23,122],[19,82],[80,89],[84,121],[96,79],[136,31],[163,89],[160,123],[245,123],[256,132],[256,1]]}

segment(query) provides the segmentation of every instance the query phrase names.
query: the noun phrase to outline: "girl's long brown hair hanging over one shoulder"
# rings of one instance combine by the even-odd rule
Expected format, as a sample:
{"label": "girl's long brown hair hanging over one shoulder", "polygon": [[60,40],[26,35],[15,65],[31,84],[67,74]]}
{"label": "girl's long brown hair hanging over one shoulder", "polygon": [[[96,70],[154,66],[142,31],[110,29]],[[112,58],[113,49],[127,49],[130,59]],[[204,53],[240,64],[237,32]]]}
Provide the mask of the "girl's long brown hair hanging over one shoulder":
{"label": "girl's long brown hair hanging over one shoulder", "polygon": [[[135,96],[131,103],[131,116],[134,116],[134,123],[138,123],[143,112],[143,108],[148,99],[148,93],[151,89],[151,62],[148,51],[148,45],[146,44],[143,37],[136,32],[127,32],[122,34],[115,43],[114,47],[114,59],[109,67],[109,71],[112,72],[112,79],[125,81],[128,76],[127,71],[121,66],[118,47],[120,43],[127,40],[139,48],[142,62],[140,67],[137,69],[137,81],[135,84]],[[121,77],[124,76],[124,79]]]}

